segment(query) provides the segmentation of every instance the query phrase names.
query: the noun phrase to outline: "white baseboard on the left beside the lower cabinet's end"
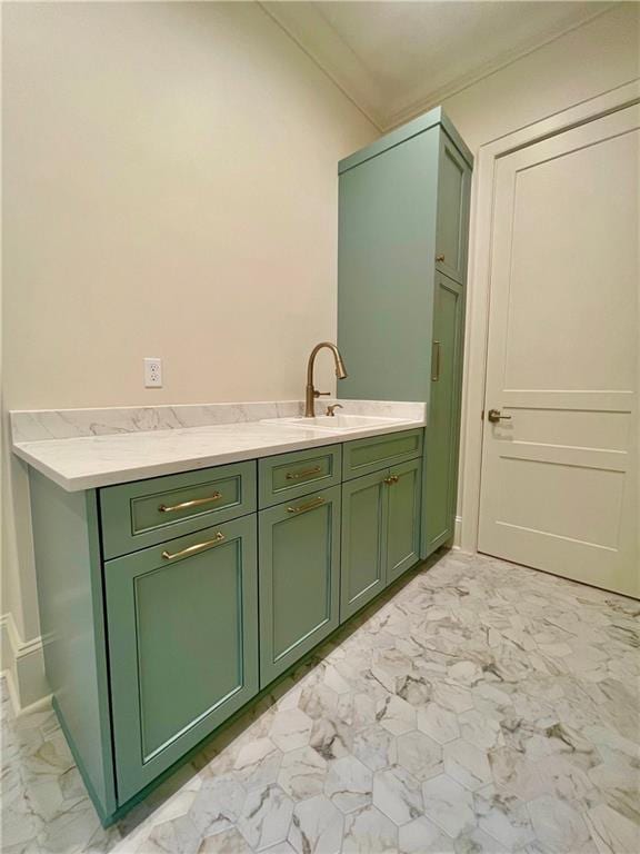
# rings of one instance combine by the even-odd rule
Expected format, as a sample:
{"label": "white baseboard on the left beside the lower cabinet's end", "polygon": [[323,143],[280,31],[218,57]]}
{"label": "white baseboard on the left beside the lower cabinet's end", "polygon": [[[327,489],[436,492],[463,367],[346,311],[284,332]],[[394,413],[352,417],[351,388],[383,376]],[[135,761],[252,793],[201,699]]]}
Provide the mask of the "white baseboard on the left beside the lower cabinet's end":
{"label": "white baseboard on the left beside the lower cabinet's end", "polygon": [[44,676],[42,638],[22,640],[12,614],[0,616],[1,667],[16,714],[48,703],[49,685]]}

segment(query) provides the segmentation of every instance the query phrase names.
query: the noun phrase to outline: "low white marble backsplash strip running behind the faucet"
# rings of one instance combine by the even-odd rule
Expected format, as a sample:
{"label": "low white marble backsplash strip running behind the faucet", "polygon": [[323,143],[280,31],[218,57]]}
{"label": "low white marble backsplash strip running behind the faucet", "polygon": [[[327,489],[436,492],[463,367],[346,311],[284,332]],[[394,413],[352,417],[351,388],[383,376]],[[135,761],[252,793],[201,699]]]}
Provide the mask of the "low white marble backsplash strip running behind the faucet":
{"label": "low white marble backsplash strip running behind the faucet", "polygon": [[[378,415],[408,420],[424,419],[427,409],[423,403],[327,398],[322,404],[317,405],[318,414],[332,403],[341,404],[346,414]],[[294,418],[302,413],[302,400],[273,400],[106,407],[103,409],[17,409],[9,415],[12,441],[17,444],[108,436],[118,433],[149,433],[220,424],[243,424],[267,418]]]}

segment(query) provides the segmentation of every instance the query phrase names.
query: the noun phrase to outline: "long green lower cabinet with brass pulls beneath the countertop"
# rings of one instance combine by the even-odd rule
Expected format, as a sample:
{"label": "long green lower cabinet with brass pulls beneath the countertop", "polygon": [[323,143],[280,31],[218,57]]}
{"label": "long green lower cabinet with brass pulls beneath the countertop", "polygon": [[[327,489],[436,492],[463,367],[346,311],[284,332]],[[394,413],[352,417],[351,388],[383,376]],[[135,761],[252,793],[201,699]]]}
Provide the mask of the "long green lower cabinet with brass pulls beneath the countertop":
{"label": "long green lower cabinet with brass pulls beneath the countertop", "polygon": [[47,676],[103,824],[418,562],[423,439],[87,491],[30,469]]}

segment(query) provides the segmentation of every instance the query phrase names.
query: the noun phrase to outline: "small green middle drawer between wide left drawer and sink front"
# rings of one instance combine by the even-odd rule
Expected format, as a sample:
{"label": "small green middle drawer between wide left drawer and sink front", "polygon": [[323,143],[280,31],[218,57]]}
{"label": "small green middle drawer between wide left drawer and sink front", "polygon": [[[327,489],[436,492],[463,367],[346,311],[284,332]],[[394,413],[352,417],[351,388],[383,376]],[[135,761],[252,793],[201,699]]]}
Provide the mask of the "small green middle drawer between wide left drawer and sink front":
{"label": "small green middle drawer between wide left drawer and sink front", "polygon": [[288,502],[340,483],[340,445],[279,454],[258,463],[260,507]]}

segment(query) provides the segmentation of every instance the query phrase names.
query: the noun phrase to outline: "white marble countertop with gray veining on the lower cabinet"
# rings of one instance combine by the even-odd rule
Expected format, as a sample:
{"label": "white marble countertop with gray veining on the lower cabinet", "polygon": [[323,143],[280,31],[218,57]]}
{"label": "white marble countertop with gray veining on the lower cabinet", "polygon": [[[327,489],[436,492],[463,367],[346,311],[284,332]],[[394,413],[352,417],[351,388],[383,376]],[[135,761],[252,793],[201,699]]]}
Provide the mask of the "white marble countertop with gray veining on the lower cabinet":
{"label": "white marble countertop with gray veining on the lower cabinet", "polygon": [[[352,414],[367,413],[382,416],[381,407],[367,408],[366,401],[358,401],[351,407],[348,406],[348,401],[340,403],[344,404],[346,411]],[[396,411],[389,411],[392,405],[384,404],[383,417],[396,417],[397,420],[374,428],[367,427],[349,431],[242,420],[188,427],[158,426],[156,429],[138,427],[124,430],[122,428],[121,431],[108,431],[103,435],[31,440],[20,440],[23,435],[20,417],[27,414],[12,413],[13,451],[63,489],[78,491],[424,426],[423,404],[402,404]],[[169,409],[169,407],[164,408]],[[171,408],[172,416],[177,410],[179,410],[178,407]],[[72,413],[108,410],[61,411],[64,411],[64,420],[68,425],[72,420],[70,415]],[[247,409],[243,414],[247,414]],[[36,414],[28,415],[29,424],[32,425]],[[260,411],[260,415],[263,413]],[[250,417],[251,411],[249,411]],[[46,419],[40,418],[40,420]],[[159,419],[160,423],[161,420]],[[81,421],[82,418],[77,420],[78,424]]]}

